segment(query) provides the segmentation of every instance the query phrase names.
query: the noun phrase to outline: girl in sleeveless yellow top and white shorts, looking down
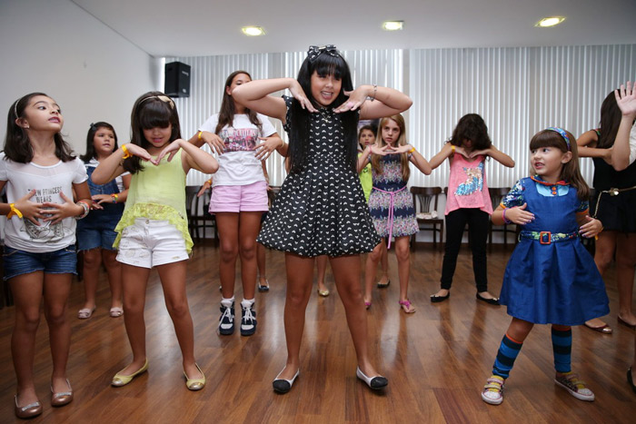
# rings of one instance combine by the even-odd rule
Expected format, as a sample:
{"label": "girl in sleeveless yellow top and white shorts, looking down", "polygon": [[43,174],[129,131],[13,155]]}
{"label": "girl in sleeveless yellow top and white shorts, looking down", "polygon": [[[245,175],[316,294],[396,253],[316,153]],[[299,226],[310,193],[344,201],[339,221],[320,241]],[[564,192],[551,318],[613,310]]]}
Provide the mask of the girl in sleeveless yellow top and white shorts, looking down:
{"label": "girl in sleeveless yellow top and white shorts, looking down", "polygon": [[186,260],[193,246],[185,215],[185,175],[191,168],[215,173],[219,165],[212,155],[181,139],[174,102],[163,93],[139,97],[131,123],[132,143],[116,150],[93,173],[97,184],[124,171],[133,174],[114,242],[119,246],[117,261],[122,262],[124,323],[133,361],[111,384],[124,386],[148,369],[145,290],[150,270],[156,267],[183,355],[185,384],[191,390],[203,389],[205,377],[194,361],[194,330],[185,294]]}

